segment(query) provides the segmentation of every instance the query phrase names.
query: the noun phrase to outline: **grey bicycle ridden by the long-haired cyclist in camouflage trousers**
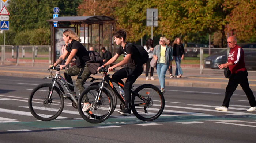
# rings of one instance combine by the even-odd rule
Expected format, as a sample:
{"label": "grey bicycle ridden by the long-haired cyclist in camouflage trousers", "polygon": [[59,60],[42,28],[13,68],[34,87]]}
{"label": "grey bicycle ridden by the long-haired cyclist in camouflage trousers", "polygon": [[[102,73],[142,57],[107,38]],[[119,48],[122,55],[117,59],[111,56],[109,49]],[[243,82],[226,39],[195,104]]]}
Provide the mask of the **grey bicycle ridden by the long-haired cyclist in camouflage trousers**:
{"label": "grey bicycle ridden by the long-haired cyclist in camouflage trousers", "polygon": [[[52,70],[51,70],[52,69]],[[53,77],[53,70],[56,70],[55,76]],[[65,99],[69,99],[72,102],[72,106],[77,109],[77,97],[73,95],[69,86],[75,87],[75,85],[69,83],[63,76],[60,75],[60,68],[52,67],[48,69],[49,77],[43,79],[51,78],[51,83],[39,84],[35,87],[28,100],[29,109],[31,114],[42,121],[50,121],[56,119],[64,108],[64,96]],[[89,77],[93,78],[93,77]],[[92,81],[95,79],[93,78]],[[58,85],[58,87],[57,87]],[[67,91],[65,94],[63,87]]]}

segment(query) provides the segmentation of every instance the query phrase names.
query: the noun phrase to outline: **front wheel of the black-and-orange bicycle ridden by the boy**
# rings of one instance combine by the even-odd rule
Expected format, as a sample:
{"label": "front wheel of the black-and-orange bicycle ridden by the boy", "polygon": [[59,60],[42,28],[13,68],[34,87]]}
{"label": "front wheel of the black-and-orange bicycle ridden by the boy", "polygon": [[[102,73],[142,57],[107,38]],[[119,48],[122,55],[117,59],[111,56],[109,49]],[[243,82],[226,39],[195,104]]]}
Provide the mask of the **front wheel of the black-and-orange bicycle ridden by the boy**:
{"label": "front wheel of the black-and-orange bicycle ridden by the boy", "polygon": [[[90,123],[101,123],[108,119],[112,113],[113,99],[105,88],[102,88],[99,102],[94,102],[98,90],[99,86],[89,86],[81,93],[78,99],[78,112],[84,120]],[[92,104],[92,107],[88,111],[83,112],[83,104],[87,102]]]}

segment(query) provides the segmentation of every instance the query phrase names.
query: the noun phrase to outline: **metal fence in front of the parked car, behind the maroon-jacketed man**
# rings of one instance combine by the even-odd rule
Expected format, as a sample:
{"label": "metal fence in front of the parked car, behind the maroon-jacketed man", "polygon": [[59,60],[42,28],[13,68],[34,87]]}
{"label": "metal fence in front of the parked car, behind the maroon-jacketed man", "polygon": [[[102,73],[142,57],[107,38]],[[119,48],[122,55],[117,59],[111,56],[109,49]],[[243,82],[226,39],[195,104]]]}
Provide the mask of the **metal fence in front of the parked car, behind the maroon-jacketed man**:
{"label": "metal fence in front of the parked car, behind the maroon-jacketed man", "polygon": [[[230,48],[184,48],[185,60],[183,65],[193,65],[200,68],[200,74],[204,70],[218,69],[218,65],[226,63]],[[246,68],[256,72],[256,49],[244,48],[244,60]],[[181,64],[182,64],[181,63]]]}

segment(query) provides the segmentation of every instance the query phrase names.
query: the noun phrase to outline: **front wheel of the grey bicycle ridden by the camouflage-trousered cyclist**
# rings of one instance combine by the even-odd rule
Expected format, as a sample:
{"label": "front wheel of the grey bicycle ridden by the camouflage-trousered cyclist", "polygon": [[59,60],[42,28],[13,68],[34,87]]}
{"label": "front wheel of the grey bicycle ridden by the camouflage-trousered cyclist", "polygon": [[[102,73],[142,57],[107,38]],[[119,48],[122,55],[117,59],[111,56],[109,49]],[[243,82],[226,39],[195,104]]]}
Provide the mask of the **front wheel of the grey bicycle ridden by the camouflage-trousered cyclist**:
{"label": "front wheel of the grey bicycle ridden by the camouflage-trousered cyclist", "polygon": [[63,110],[64,98],[61,91],[54,87],[52,97],[48,99],[51,89],[50,83],[40,84],[33,89],[29,96],[29,110],[38,120],[54,120]]}

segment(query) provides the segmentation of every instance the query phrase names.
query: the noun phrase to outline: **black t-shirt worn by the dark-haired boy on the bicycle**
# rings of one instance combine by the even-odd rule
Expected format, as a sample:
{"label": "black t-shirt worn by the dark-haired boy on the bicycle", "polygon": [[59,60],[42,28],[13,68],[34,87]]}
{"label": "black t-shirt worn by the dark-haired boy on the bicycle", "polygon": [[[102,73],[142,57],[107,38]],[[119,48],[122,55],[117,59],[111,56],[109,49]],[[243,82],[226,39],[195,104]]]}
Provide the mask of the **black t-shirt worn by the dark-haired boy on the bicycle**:
{"label": "black t-shirt worn by the dark-haired boy on the bicycle", "polygon": [[128,64],[127,64],[130,69],[135,69],[136,66],[142,65],[140,61],[140,53],[138,49],[131,44],[126,43],[124,46],[124,49],[122,46],[120,46],[117,50],[117,54],[118,55],[124,54],[124,57],[126,57],[127,54],[132,55],[131,59],[128,61]]}

